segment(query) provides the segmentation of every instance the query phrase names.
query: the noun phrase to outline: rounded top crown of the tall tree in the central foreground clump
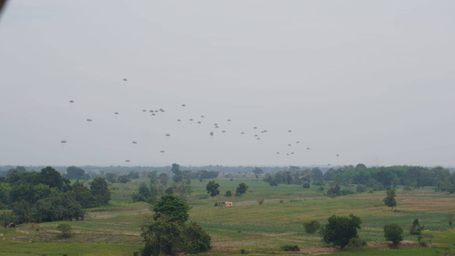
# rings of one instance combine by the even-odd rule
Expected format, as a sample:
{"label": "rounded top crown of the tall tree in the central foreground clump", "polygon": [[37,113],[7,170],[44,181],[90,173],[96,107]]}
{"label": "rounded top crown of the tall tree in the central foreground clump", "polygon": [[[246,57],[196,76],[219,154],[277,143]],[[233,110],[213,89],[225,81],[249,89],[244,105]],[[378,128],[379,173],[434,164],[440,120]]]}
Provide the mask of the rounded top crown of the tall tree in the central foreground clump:
{"label": "rounded top crown of the tall tree in the central foreground clump", "polygon": [[188,220],[190,206],[176,195],[164,195],[155,203],[155,219],[166,216],[171,222],[185,223]]}

